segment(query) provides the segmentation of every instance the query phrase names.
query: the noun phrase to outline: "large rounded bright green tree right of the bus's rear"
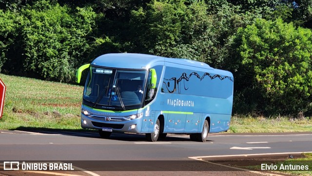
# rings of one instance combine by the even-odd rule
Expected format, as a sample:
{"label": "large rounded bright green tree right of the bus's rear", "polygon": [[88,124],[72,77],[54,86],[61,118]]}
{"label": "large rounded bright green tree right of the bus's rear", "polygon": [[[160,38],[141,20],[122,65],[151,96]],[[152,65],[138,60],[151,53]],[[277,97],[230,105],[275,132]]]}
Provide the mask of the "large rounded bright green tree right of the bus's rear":
{"label": "large rounded bright green tree right of the bus's rear", "polygon": [[234,41],[231,61],[237,94],[243,96],[239,101],[255,104],[265,115],[311,111],[311,30],[281,19],[258,19],[239,28]]}

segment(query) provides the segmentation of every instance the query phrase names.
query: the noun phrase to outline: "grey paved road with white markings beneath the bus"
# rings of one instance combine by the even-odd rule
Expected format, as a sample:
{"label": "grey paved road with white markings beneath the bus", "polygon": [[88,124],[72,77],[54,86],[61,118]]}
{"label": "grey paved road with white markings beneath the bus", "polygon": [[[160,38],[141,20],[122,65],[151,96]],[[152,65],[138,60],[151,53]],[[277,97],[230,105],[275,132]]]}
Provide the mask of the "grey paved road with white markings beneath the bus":
{"label": "grey paved road with white markings beneath the bus", "polygon": [[[152,168],[156,168],[155,170],[160,168],[161,171],[161,167],[163,167],[166,171],[173,173],[176,173],[177,170],[185,171],[178,175],[191,171],[200,171],[199,175],[203,173],[220,175],[220,170],[235,170],[233,168],[220,169],[221,166],[211,166],[212,164],[207,169],[207,165],[198,166],[196,162],[204,163],[202,161],[220,158],[252,158],[263,154],[277,155],[278,153],[288,156],[312,152],[312,133],[212,134],[205,143],[191,141],[186,135],[169,135],[161,141],[152,143],[146,142],[144,135],[137,134],[113,134],[110,139],[102,139],[98,137],[97,133],[92,132],[0,132],[0,158],[2,161],[89,160],[89,163],[94,163],[95,160],[106,160],[104,163],[109,171],[120,171],[120,166],[129,171],[131,168],[136,168],[136,165],[141,165],[145,168],[140,167],[134,171],[154,170]],[[118,161],[125,160],[129,162],[123,162],[124,164],[121,163],[114,168],[114,164],[116,165]],[[155,167],[157,161],[158,163],[167,163]],[[175,166],[173,163],[176,161],[186,161],[186,163]],[[166,168],[166,165],[173,165],[171,168],[173,170]],[[93,171],[97,173],[98,169],[93,168]],[[99,173],[99,175],[105,175],[103,172]],[[235,172],[232,173],[235,175]],[[147,173],[143,172],[144,174]],[[248,175],[253,174],[248,173]]]}

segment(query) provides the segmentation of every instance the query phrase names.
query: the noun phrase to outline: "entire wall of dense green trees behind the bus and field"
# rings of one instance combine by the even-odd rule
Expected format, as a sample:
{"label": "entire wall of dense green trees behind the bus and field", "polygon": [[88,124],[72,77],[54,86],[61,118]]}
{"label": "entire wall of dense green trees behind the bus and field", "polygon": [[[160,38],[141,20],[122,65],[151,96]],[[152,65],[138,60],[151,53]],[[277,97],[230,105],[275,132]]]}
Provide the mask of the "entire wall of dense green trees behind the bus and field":
{"label": "entire wall of dense green trees behind the bus and field", "polygon": [[312,115],[312,0],[0,0],[0,72],[73,82],[105,53],[234,74],[234,113]]}

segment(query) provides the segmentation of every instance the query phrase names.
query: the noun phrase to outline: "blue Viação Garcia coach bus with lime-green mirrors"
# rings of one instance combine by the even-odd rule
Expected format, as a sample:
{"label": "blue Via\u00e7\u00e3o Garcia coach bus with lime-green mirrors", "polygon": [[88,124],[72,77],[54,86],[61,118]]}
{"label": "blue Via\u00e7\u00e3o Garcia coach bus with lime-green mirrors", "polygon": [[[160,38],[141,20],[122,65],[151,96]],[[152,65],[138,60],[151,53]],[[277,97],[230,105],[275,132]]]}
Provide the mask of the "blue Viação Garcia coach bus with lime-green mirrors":
{"label": "blue Via\u00e7\u00e3o Garcia coach bus with lime-green mirrors", "polygon": [[205,142],[208,133],[227,131],[233,105],[232,73],[189,59],[144,54],[105,54],[88,69],[81,127],[143,133],[148,141],[167,133],[189,134]]}

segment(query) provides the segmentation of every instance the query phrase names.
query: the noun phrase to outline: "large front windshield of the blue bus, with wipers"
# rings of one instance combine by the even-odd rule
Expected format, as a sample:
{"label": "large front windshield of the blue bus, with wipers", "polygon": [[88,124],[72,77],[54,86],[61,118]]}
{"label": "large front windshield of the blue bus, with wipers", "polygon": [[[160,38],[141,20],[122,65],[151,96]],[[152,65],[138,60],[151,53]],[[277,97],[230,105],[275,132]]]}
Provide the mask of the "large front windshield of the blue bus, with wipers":
{"label": "large front windshield of the blue bus, with wipers", "polygon": [[98,109],[128,110],[143,101],[146,70],[91,67],[83,100]]}

